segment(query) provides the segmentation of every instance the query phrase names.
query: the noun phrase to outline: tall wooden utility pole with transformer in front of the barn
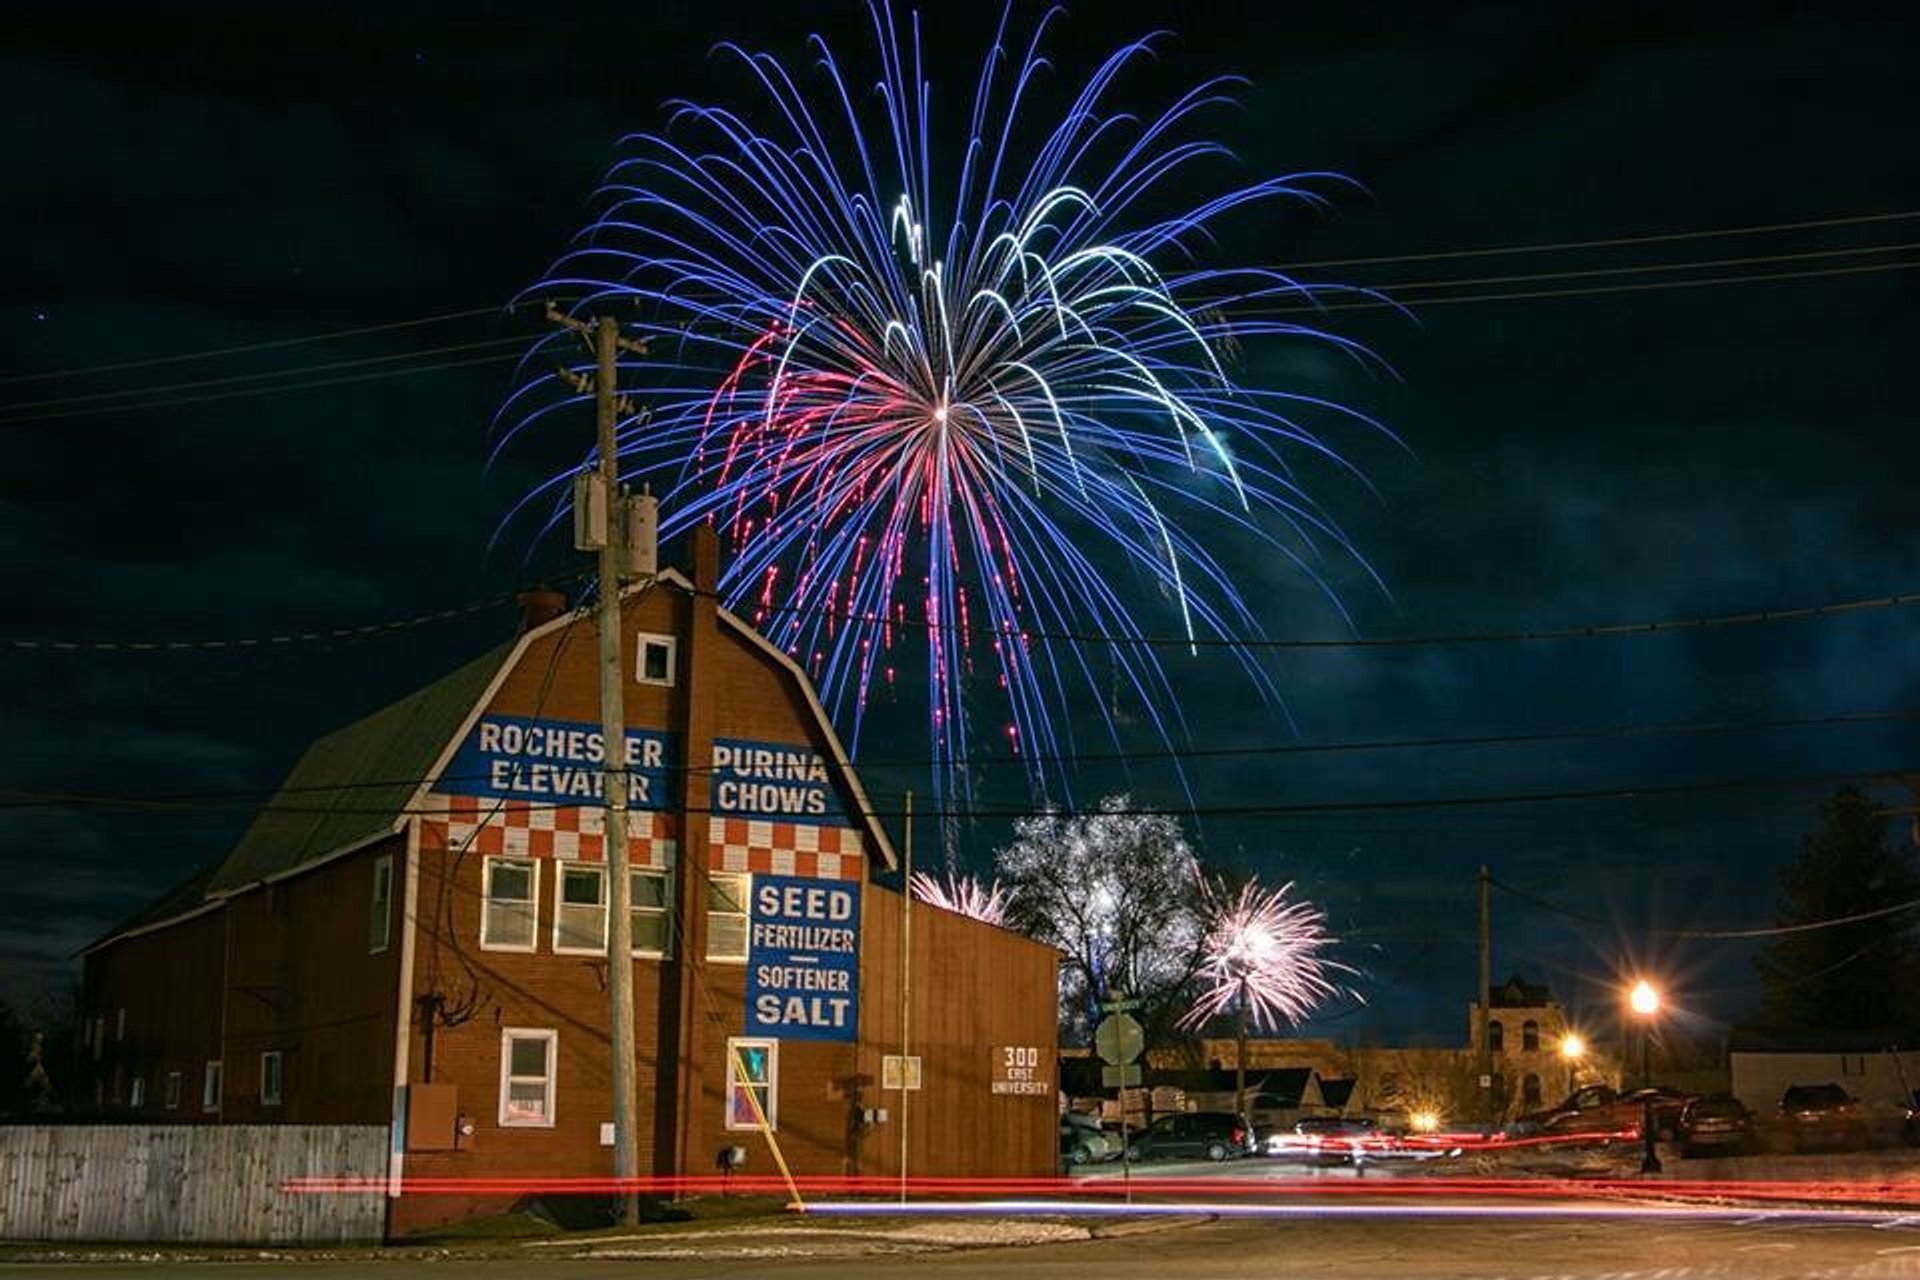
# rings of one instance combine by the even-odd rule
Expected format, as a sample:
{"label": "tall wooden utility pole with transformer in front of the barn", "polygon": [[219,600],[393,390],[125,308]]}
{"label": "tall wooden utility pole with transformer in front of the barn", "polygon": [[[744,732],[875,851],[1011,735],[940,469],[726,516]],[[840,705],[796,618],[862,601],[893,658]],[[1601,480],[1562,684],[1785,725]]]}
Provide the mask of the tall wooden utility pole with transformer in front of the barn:
{"label": "tall wooden utility pole with transformer in front of the barn", "polygon": [[[593,378],[561,368],[561,378],[576,391],[593,391],[595,443],[599,470],[574,478],[574,545],[599,553],[599,693],[601,693],[601,800],[607,810],[607,1019],[612,1042],[612,1173],[620,1184],[616,1197],[620,1222],[639,1222],[639,1098],[634,1065],[634,875],[628,850],[628,752],[626,752],[626,666],[620,626],[620,587],[628,572],[630,499],[620,491],[620,459],[614,424],[632,415],[618,395],[620,351],[645,353],[643,342],[620,338],[620,322],[609,315],[591,322],[574,319],[547,303],[547,320],[591,342]],[[651,568],[651,566],[649,566]],[[685,854],[682,854],[685,856]]]}

